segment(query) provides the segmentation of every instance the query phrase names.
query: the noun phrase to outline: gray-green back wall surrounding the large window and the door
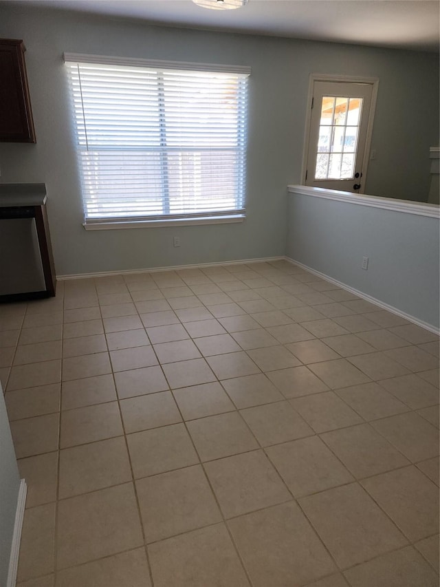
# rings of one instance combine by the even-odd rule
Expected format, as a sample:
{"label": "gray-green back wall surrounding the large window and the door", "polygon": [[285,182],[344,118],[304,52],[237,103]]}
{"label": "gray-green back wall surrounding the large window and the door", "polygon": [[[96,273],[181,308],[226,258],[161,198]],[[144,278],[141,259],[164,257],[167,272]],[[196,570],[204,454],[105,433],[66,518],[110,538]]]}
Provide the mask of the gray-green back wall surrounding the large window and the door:
{"label": "gray-green back wall surrounding the large window and the door", "polygon": [[[438,58],[263,36],[160,28],[0,3],[0,37],[24,39],[36,145],[1,144],[2,182],[45,182],[56,273],[285,254],[287,184],[300,181],[309,74],[380,78],[366,192],[426,200],[437,141]],[[248,217],[243,224],[85,232],[63,52],[252,67]],[[173,248],[172,236],[181,237]]]}

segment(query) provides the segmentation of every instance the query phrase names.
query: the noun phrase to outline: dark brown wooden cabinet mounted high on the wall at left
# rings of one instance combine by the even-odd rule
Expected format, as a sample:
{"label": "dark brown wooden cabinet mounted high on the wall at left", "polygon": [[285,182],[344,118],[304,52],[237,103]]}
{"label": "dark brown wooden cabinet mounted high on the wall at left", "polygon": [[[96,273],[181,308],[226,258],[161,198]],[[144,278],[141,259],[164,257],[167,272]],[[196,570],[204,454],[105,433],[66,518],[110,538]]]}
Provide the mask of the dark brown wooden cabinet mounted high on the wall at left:
{"label": "dark brown wooden cabinet mounted high on the wall at left", "polygon": [[21,40],[0,39],[1,142],[36,142],[25,50]]}

